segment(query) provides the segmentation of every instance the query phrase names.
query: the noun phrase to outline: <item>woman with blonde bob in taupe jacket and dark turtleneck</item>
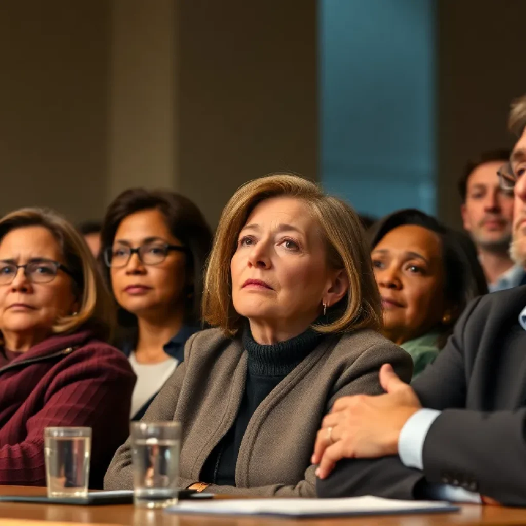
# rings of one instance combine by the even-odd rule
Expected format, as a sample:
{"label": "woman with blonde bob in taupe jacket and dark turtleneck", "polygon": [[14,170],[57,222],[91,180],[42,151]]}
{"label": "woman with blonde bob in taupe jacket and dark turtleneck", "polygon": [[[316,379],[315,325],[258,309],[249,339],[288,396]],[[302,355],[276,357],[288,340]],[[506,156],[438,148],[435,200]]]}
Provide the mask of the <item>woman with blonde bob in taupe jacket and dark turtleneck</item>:
{"label": "woman with blonde bob in taupe jacket and dark turtleneck", "polygon": [[[382,390],[390,362],[380,298],[358,216],[294,175],[239,188],[226,205],[205,276],[205,319],[143,420],[183,429],[180,488],[238,495],[315,495],[316,432],[344,395]],[[107,489],[132,488],[128,440]]]}

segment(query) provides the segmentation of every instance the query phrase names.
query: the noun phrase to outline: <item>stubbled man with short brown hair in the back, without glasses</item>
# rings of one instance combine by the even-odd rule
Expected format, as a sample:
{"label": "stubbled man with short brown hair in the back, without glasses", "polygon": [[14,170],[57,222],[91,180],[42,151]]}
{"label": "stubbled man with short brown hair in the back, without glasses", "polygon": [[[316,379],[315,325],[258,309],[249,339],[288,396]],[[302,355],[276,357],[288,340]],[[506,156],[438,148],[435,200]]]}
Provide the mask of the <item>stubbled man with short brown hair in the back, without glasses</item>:
{"label": "stubbled man with short brown hair in the back, without glasses", "polygon": [[463,227],[477,246],[491,292],[516,287],[525,276],[509,255],[513,193],[500,188],[497,175],[510,154],[505,149],[483,152],[468,162],[458,185]]}

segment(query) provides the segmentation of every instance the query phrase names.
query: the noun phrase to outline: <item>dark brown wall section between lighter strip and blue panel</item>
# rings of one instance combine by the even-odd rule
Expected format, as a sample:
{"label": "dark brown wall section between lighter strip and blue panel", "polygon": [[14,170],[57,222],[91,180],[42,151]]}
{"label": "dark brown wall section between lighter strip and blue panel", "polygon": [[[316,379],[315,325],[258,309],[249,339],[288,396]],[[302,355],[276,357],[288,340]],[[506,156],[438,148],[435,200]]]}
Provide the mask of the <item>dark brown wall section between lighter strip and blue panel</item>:
{"label": "dark brown wall section between lighter strip and blue panel", "polygon": [[271,171],[316,178],[317,2],[181,0],[179,189],[216,224]]}

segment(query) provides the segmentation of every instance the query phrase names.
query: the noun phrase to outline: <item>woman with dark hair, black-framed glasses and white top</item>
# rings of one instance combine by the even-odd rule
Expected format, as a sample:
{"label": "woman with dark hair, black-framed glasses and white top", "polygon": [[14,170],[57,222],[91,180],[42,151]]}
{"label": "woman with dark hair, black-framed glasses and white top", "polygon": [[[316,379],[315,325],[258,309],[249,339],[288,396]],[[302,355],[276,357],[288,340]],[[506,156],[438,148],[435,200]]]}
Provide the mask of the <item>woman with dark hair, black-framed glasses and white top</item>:
{"label": "woman with dark hair, black-framed glasses and white top", "polygon": [[109,206],[103,267],[119,306],[117,345],[137,375],[131,418],[140,419],[201,326],[203,266],[211,232],[189,199],[126,190]]}

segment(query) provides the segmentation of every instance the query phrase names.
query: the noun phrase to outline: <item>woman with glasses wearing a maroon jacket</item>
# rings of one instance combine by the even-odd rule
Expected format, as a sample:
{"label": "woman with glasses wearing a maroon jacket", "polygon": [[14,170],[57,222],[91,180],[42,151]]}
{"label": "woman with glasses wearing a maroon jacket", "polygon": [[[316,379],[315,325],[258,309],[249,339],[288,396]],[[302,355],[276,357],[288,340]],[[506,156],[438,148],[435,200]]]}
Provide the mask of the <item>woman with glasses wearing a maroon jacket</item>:
{"label": "woman with glasses wearing a maroon jacket", "polygon": [[104,341],[113,304],[88,247],[50,211],[0,220],[0,484],[45,485],[44,428],[93,428],[90,487],[128,436],[135,376]]}

